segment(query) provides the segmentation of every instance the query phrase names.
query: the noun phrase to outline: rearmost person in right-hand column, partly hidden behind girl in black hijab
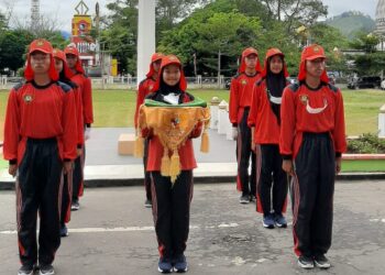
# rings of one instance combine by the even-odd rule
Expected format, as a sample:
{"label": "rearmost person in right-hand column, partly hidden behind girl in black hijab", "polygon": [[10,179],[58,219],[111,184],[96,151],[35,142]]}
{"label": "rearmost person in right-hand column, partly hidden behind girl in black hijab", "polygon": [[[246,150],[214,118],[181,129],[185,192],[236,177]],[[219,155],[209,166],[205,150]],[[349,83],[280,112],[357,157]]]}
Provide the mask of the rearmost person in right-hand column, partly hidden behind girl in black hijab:
{"label": "rearmost person in right-hand column, partly hidden behind girl in black hijab", "polygon": [[[237,139],[238,176],[237,189],[242,191],[240,202],[249,204],[256,196],[256,153],[251,150],[251,129],[248,117],[255,82],[261,78],[258,53],[249,47],[243,51],[239,74],[230,86],[229,118]],[[252,173],[249,176],[249,163],[252,160]],[[249,185],[250,183],[250,185]]]}

